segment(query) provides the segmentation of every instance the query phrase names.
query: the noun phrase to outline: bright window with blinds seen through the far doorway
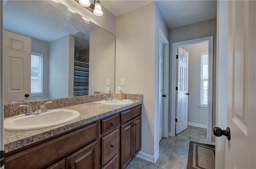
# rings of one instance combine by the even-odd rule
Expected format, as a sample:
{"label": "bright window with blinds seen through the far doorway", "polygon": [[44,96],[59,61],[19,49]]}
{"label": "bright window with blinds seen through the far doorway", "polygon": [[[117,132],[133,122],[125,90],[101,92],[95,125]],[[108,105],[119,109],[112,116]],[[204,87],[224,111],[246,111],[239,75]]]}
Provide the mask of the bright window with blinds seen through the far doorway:
{"label": "bright window with blinds seen through the far doorway", "polygon": [[200,107],[208,104],[208,52],[201,53]]}

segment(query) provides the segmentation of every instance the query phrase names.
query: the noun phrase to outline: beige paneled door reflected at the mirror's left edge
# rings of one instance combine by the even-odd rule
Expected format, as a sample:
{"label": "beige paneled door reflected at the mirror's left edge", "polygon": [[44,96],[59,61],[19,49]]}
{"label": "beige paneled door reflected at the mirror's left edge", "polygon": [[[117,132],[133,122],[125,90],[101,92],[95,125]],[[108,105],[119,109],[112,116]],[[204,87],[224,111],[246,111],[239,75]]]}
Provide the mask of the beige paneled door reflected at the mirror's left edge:
{"label": "beige paneled door reflected at the mirror's left edge", "polygon": [[3,34],[4,103],[30,100],[31,38],[4,31]]}

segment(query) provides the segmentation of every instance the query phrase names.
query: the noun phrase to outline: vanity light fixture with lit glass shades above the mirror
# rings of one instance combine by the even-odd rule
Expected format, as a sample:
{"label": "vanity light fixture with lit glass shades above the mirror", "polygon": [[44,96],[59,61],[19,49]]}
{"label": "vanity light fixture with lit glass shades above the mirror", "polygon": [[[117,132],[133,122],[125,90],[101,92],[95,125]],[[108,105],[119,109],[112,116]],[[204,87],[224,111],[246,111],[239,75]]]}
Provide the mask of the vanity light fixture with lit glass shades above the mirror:
{"label": "vanity light fixture with lit glass shades above the mirror", "polygon": [[84,8],[90,10],[92,13],[94,13],[94,15],[96,16],[103,15],[102,6],[99,0],[94,0],[94,4],[91,4],[89,0],[75,0],[75,1],[81,4],[82,6],[84,6]]}

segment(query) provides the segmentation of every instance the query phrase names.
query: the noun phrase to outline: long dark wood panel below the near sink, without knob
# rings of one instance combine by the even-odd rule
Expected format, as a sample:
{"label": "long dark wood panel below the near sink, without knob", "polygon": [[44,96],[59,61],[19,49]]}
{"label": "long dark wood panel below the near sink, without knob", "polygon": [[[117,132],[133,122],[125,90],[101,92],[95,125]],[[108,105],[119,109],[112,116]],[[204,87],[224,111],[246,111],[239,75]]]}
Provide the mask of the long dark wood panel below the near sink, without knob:
{"label": "long dark wood panel below the near sink, without knob", "polygon": [[97,123],[6,157],[5,169],[42,168],[54,159],[97,139]]}

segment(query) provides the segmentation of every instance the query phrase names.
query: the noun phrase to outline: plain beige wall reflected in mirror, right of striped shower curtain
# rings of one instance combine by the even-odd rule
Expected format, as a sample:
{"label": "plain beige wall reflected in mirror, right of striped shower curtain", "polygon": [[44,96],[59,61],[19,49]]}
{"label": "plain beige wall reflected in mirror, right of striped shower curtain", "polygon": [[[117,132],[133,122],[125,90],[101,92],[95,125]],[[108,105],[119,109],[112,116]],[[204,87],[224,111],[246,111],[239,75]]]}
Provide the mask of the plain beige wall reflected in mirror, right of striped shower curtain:
{"label": "plain beige wall reflected in mirror, right of striped shower curtain", "polygon": [[105,91],[110,79],[110,92],[114,92],[115,36],[100,28],[90,28],[89,95]]}

